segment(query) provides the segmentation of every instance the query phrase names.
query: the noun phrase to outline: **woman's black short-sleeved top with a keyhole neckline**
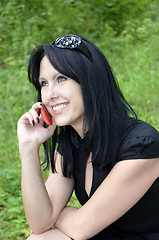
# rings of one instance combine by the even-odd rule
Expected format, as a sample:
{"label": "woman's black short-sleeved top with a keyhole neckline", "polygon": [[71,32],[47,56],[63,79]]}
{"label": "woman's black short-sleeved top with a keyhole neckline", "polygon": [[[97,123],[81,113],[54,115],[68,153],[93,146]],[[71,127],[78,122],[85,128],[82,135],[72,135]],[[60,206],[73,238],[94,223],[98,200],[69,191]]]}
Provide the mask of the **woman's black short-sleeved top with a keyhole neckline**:
{"label": "woman's black short-sleeved top with a keyhole neckline", "polygon": [[[80,139],[79,144],[77,139],[72,138],[75,156],[73,172],[75,193],[81,205],[89,200],[111,171],[93,168],[92,187],[88,196],[85,191],[85,168],[89,153],[82,148],[84,141],[85,139]],[[152,158],[159,158],[159,133],[151,125],[138,120],[137,125],[125,134],[116,163],[129,159],[151,161]],[[91,239],[159,240],[159,178],[127,213]]]}

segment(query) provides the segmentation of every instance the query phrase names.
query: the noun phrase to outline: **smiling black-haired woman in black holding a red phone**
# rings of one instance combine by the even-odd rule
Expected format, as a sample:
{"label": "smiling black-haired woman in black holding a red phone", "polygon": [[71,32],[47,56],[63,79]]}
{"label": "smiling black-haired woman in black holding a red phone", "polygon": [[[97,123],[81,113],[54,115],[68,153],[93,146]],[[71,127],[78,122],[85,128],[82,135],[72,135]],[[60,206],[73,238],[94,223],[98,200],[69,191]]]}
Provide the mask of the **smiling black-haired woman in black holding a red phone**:
{"label": "smiling black-haired woman in black holding a red phone", "polygon": [[[65,35],[33,51],[28,75],[38,91],[18,122],[28,239],[159,239],[159,133],[137,119],[101,51]],[[79,209],[66,206],[74,189]]]}

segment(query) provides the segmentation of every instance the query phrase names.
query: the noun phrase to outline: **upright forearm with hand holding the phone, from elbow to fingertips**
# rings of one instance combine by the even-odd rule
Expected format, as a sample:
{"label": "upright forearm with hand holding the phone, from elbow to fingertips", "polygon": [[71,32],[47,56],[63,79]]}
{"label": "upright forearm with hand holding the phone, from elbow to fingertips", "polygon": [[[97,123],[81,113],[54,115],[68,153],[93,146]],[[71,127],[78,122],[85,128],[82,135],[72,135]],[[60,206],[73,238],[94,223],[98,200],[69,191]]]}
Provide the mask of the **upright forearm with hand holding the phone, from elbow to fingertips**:
{"label": "upright forearm with hand holding the phone, from elbow to fingertips", "polygon": [[22,163],[22,197],[28,224],[35,233],[50,228],[58,215],[53,216],[53,201],[45,187],[39,160],[39,148],[53,135],[56,124],[53,121],[49,127],[43,126],[43,119],[38,115],[42,107],[41,102],[35,103],[17,124]]}

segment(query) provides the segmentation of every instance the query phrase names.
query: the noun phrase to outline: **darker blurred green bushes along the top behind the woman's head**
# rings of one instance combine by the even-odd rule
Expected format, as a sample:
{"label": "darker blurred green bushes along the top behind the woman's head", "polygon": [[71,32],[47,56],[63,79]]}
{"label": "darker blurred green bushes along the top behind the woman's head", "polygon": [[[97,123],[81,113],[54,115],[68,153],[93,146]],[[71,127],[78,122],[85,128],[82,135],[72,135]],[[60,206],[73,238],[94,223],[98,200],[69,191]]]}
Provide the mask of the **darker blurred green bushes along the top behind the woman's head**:
{"label": "darker blurred green bushes along the top behind the woman's head", "polygon": [[[157,20],[155,0],[1,0],[1,64],[24,64],[39,43],[75,33],[109,45],[110,38],[143,40],[153,32]],[[154,29],[155,27],[155,29]],[[153,28],[153,29],[152,29]]]}

